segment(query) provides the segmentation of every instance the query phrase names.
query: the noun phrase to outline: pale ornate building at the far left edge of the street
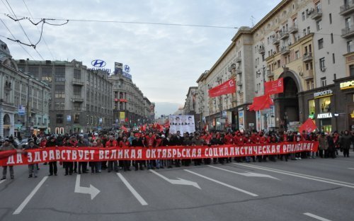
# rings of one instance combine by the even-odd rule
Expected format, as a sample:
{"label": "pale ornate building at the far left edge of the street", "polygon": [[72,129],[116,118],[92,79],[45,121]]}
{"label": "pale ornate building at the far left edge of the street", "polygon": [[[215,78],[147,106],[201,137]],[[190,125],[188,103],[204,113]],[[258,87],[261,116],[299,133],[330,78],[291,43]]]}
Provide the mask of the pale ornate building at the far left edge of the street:
{"label": "pale ornate building at the far left edge of the street", "polygon": [[0,40],[0,136],[47,132],[50,87],[22,72]]}

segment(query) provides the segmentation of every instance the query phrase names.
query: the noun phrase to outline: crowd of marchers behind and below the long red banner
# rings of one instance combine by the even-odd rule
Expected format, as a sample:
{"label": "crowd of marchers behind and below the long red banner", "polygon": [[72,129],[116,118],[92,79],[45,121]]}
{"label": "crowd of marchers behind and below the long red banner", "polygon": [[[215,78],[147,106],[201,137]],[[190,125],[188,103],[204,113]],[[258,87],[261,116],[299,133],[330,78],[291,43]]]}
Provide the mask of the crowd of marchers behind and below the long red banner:
{"label": "crowd of marchers behind and below the long red banner", "polygon": [[[341,152],[344,157],[349,157],[349,150],[353,148],[354,134],[348,130],[344,132],[185,132],[183,135],[178,131],[176,134],[170,134],[159,130],[149,130],[147,132],[122,131],[122,132],[101,132],[86,133],[76,135],[32,135],[28,138],[28,144],[18,147],[13,137],[6,137],[1,140],[0,151],[11,149],[38,149],[46,147],[166,147],[169,146],[214,146],[214,145],[246,145],[246,144],[271,144],[277,142],[300,142],[300,141],[318,141],[319,149],[317,152],[299,152],[293,154],[263,155],[250,157],[221,157],[205,159],[171,159],[171,160],[120,160],[108,162],[48,162],[44,165],[49,167],[48,176],[57,176],[58,167],[63,167],[65,176],[72,174],[101,173],[102,171],[118,172],[120,170],[130,171],[131,169],[164,169],[181,166],[190,166],[194,164],[225,164],[235,162],[275,162],[278,160],[297,160],[297,159],[315,159],[336,158]],[[59,166],[58,166],[59,164]],[[44,169],[42,165],[28,165],[28,178],[36,178],[38,170]],[[13,166],[3,166],[2,179],[6,179],[7,170],[10,171],[10,178],[14,179]]]}

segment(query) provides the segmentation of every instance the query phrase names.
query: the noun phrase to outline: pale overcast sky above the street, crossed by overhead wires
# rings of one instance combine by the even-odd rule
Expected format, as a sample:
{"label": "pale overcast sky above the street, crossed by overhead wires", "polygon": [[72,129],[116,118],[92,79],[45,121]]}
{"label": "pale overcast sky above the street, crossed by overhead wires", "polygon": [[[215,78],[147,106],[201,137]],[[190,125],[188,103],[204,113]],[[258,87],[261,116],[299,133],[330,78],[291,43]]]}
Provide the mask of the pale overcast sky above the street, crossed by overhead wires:
{"label": "pale overcast sky above the street, crossed by overhead wires", "polygon": [[[28,43],[18,23],[4,16],[61,18],[73,20],[173,23],[200,26],[241,27],[257,23],[280,0],[1,0],[0,18],[16,39]],[[25,4],[28,6],[26,8]],[[32,16],[31,16],[31,15]],[[39,21],[39,20],[35,20]],[[29,21],[20,21],[28,38],[37,42],[40,31]],[[49,21],[63,23],[63,21]],[[157,115],[170,114],[183,106],[189,86],[197,86],[200,74],[210,69],[227,49],[234,28],[161,26],[137,23],[69,21],[64,26],[45,24],[36,47],[45,60],[78,60],[130,66],[132,80],[144,96],[156,103]],[[31,47],[23,50],[0,21],[0,39],[14,59],[42,60]],[[45,41],[44,41],[45,40]],[[47,42],[47,45],[45,44]],[[49,49],[48,49],[49,47]]]}

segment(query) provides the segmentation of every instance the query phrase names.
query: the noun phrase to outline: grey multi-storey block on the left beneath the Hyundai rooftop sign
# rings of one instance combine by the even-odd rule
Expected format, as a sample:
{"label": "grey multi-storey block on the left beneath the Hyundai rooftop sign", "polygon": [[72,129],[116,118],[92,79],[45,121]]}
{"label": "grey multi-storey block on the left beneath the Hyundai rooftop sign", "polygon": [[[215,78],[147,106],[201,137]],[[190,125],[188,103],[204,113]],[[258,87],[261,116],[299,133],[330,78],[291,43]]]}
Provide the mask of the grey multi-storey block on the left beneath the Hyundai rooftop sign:
{"label": "grey multi-storey block on the left beneath the Hyundai rooftop sign", "polygon": [[113,127],[112,84],[107,72],[72,60],[17,60],[18,69],[50,86],[50,132],[91,132]]}

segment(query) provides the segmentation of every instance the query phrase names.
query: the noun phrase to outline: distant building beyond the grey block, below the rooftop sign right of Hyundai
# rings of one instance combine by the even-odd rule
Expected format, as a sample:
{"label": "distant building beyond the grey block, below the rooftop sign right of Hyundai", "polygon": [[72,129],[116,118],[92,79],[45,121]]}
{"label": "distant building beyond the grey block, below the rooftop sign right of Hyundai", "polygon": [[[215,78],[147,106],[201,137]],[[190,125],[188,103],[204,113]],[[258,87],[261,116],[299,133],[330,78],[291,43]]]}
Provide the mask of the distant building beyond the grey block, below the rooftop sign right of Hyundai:
{"label": "distant building beyond the grey block, below the rooftop sign right of Hyundai", "polygon": [[116,72],[108,80],[113,84],[113,119],[116,127],[121,123],[133,127],[152,122],[154,103],[144,97],[130,75]]}

